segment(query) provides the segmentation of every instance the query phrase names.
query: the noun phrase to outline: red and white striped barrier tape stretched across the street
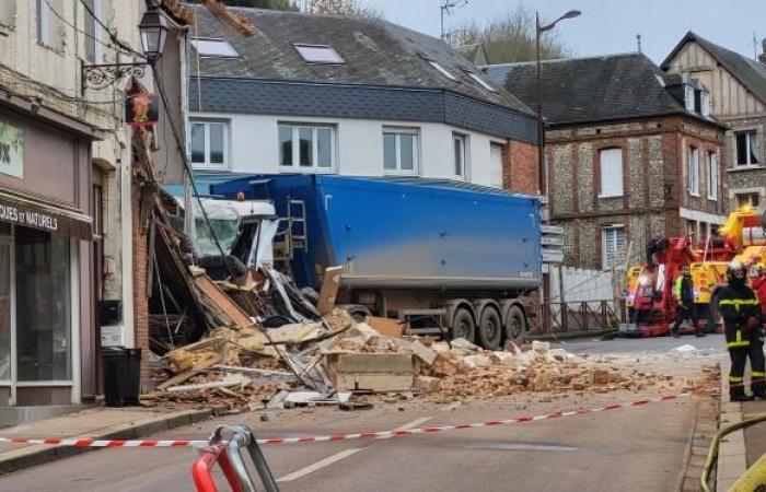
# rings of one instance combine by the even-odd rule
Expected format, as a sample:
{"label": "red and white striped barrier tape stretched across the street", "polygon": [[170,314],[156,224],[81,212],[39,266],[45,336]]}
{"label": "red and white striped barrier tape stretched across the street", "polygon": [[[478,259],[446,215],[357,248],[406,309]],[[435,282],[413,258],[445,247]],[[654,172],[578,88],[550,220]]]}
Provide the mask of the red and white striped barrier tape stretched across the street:
{"label": "red and white striped barrier tape stretched across the street", "polygon": [[[489,420],[478,423],[466,423],[457,425],[440,425],[425,426],[416,429],[401,429],[393,431],[378,432],[360,432],[356,434],[330,434],[330,435],[309,435],[302,437],[271,437],[257,440],[258,444],[301,444],[301,443],[328,443],[335,441],[352,441],[364,438],[382,438],[382,437],[399,437],[405,435],[416,434],[432,434],[437,432],[460,431],[464,429],[490,427],[496,425],[510,425],[515,423],[537,422],[541,420],[560,419],[565,417],[584,415],[588,413],[597,413],[607,410],[618,410],[631,407],[643,407],[649,403],[658,403],[662,401],[677,400],[681,398],[696,395],[695,393],[680,393],[676,395],[666,395],[654,398],[646,398],[636,401],[624,403],[615,403],[606,407],[596,407],[589,409],[578,409],[567,412],[544,413],[541,415],[520,415],[504,420]],[[188,447],[188,446],[206,446],[207,441],[194,440],[93,440],[93,438],[47,438],[35,440],[27,437],[0,437],[0,442],[14,444],[45,444],[48,446],[73,446],[73,447]]]}

